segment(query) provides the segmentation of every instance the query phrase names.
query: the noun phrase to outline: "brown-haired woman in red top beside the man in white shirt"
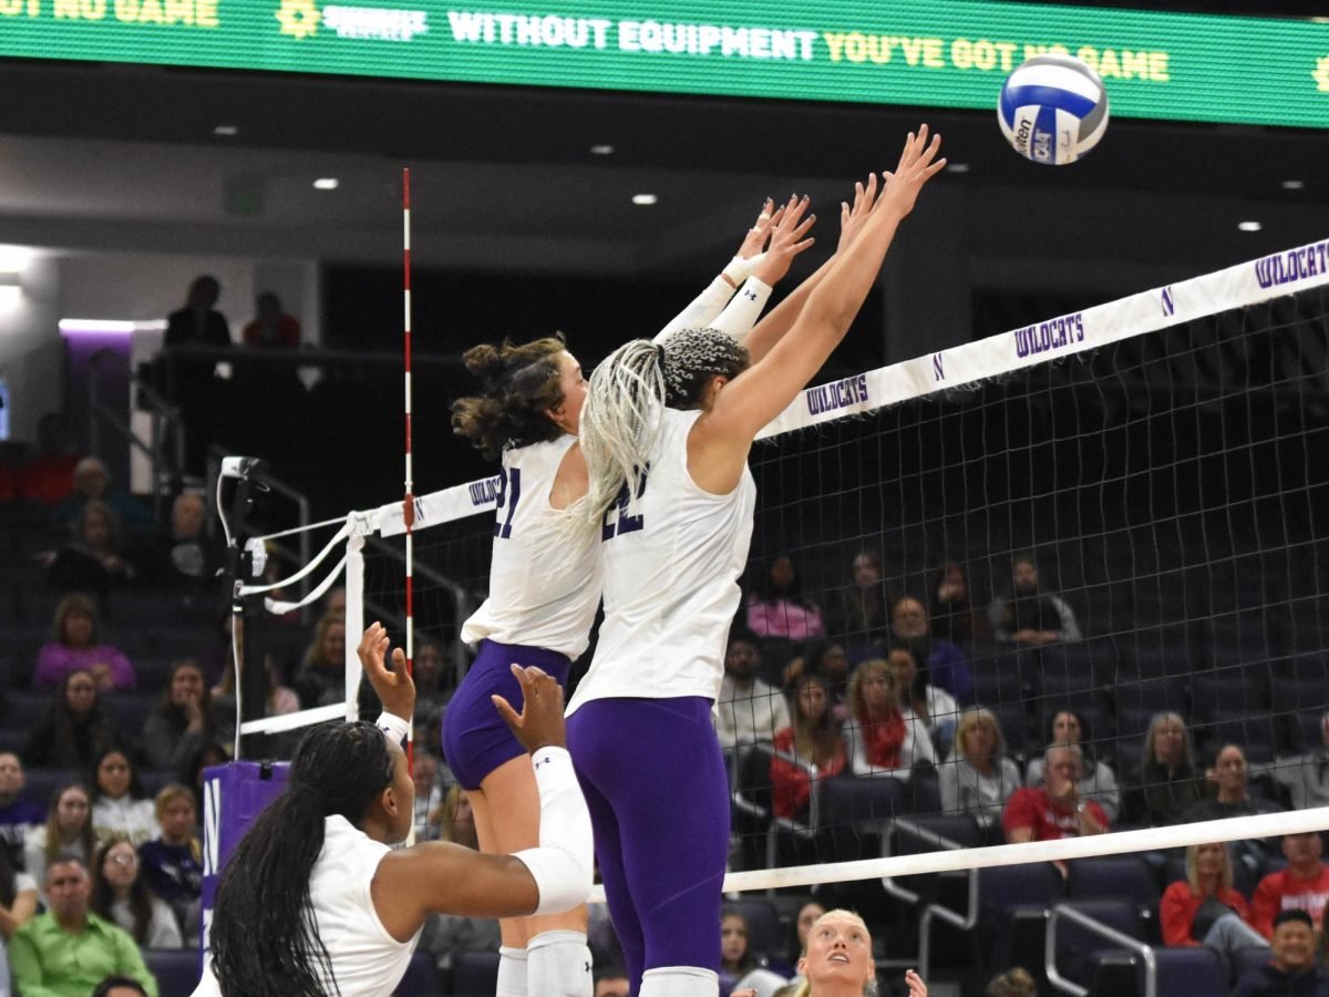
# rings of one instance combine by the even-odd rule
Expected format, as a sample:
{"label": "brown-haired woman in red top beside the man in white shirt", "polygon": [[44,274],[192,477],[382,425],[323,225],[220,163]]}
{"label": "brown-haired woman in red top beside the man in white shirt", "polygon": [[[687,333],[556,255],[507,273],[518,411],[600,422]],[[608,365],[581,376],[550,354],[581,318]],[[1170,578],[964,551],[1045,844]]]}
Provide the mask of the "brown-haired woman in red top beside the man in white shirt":
{"label": "brown-haired woman in red top beside the man in white shirt", "polygon": [[776,816],[795,818],[808,808],[812,780],[831,779],[844,771],[848,755],[840,723],[831,711],[831,690],[821,675],[803,675],[793,689],[793,722],[776,731],[775,750],[816,770],[779,755],[771,759],[772,808]]}

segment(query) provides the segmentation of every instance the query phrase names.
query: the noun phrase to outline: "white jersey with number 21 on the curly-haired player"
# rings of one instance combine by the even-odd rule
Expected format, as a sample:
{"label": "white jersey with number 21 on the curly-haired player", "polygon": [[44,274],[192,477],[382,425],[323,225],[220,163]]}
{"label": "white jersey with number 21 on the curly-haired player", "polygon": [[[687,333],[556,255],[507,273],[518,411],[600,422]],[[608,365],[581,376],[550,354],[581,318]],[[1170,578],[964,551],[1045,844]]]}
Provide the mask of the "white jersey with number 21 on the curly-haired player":
{"label": "white jersey with number 21 on the curly-haired player", "polygon": [[494,518],[489,598],[461,627],[461,639],[544,647],[577,658],[590,642],[599,605],[601,556],[593,544],[560,564],[558,517],[549,504],[575,436],[504,451]]}

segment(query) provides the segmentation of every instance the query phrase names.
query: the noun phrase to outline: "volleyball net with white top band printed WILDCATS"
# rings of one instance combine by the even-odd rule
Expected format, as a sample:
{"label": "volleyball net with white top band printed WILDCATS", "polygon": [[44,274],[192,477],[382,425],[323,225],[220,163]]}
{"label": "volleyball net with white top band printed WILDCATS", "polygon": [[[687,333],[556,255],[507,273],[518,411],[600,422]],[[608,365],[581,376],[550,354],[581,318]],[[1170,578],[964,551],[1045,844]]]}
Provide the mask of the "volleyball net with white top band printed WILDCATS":
{"label": "volleyball net with white top band printed WILDCATS", "polygon": [[[755,650],[759,682],[719,705],[732,727],[727,889],[1209,840],[1265,841],[1253,875],[1276,856],[1267,839],[1329,827],[1308,788],[1329,711],[1326,288],[1318,242],[811,387],[764,431],[731,635]],[[469,662],[459,630],[488,585],[498,488],[416,500],[416,658],[436,649],[439,703]],[[347,689],[365,622],[403,642],[401,513],[354,512],[324,552],[346,556]],[[781,558],[792,584],[769,570]],[[843,751],[808,754],[775,728],[800,715],[808,674],[833,722],[859,731]],[[863,713],[872,674],[917,707],[908,747],[898,723]],[[956,739],[974,709],[1001,734],[995,771],[1009,759],[1021,787],[1055,738],[1078,738],[1079,799],[1127,831],[1003,844],[1014,787],[998,779],[978,799],[965,775],[954,791],[956,771],[974,768]],[[340,705],[356,711],[354,697]],[[1067,713],[1075,735],[1058,726]],[[417,744],[437,750],[428,723]],[[1175,726],[1181,762],[1151,764],[1172,758],[1154,748]],[[1227,784],[1208,772],[1225,744],[1245,762]],[[1231,806],[1195,806],[1219,788]],[[1195,820],[1231,814],[1251,816]]]}

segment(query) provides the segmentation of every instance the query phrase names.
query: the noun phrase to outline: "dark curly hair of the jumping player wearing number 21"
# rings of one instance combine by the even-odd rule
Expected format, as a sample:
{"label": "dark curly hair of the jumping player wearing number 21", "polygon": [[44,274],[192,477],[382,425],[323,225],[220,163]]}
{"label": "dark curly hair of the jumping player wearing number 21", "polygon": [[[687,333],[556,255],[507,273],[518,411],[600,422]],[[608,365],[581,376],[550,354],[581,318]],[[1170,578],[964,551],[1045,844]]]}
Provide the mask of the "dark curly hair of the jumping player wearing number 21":
{"label": "dark curly hair of the jumping player wearing number 21", "polygon": [[566,348],[557,332],[520,346],[504,340],[468,350],[461,359],[481,387],[478,395],[452,403],[452,431],[489,460],[506,447],[557,440],[563,431],[545,412],[563,401],[558,358]]}

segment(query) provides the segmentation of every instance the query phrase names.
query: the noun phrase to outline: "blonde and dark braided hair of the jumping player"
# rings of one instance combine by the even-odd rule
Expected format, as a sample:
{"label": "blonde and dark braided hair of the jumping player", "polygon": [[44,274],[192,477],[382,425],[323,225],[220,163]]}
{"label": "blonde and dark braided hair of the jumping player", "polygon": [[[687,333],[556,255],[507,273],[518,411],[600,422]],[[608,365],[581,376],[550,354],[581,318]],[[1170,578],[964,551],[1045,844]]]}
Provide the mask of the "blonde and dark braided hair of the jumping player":
{"label": "blonde and dark braided hair of the jumping player", "polygon": [[581,419],[590,487],[582,525],[598,529],[625,483],[629,504],[659,440],[661,409],[695,408],[711,378],[736,378],[748,352],[714,328],[686,328],[663,343],[637,339],[610,354],[591,375]]}

